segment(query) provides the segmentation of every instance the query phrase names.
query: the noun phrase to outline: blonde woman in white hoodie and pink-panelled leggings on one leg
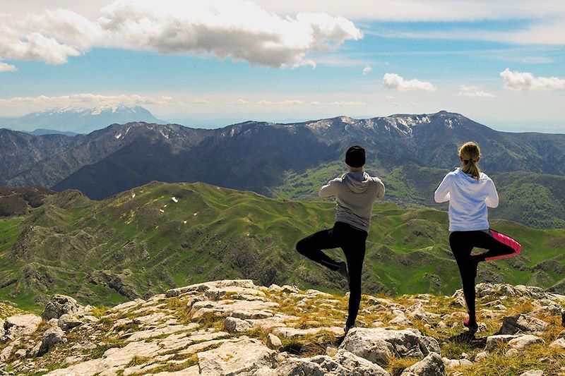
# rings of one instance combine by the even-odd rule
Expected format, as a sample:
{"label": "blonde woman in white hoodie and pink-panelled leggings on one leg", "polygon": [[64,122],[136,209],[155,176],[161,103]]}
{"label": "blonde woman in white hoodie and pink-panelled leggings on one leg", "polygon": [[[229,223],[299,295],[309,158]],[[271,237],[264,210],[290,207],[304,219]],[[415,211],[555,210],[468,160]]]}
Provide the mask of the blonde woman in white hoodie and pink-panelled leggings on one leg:
{"label": "blonde woman in white hoodie and pink-panelled leggings on one leg", "polygon": [[[522,246],[513,238],[489,229],[487,207],[499,205],[496,187],[479,166],[479,145],[467,142],[459,148],[461,166],[447,174],[436,189],[436,202],[449,202],[449,245],[457,261],[469,320],[463,325],[471,332],[478,329],[475,314],[475,277],[481,261],[496,260],[520,253]],[[485,253],[472,255],[472,248]]]}

